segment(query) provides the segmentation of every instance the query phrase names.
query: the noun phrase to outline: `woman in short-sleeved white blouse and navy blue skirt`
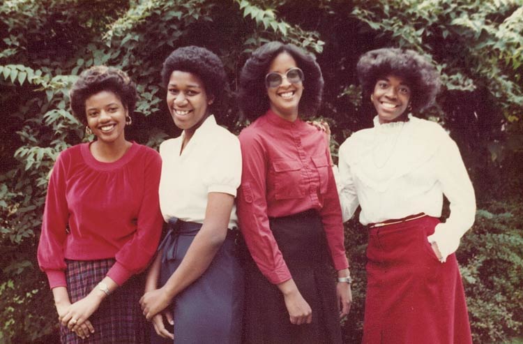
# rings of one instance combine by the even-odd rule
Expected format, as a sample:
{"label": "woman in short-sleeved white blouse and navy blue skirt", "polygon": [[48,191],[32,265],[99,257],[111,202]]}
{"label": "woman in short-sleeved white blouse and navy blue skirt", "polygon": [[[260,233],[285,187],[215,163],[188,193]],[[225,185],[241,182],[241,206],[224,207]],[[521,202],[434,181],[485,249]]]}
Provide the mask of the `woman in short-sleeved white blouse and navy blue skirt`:
{"label": "woman in short-sleeved white blouse and navy blue skirt", "polygon": [[241,151],[211,114],[225,94],[225,70],[209,50],[181,47],[165,60],[162,79],[183,133],[160,145],[160,209],[169,232],[140,304],[153,322],[153,343],[239,343],[243,269],[234,197]]}

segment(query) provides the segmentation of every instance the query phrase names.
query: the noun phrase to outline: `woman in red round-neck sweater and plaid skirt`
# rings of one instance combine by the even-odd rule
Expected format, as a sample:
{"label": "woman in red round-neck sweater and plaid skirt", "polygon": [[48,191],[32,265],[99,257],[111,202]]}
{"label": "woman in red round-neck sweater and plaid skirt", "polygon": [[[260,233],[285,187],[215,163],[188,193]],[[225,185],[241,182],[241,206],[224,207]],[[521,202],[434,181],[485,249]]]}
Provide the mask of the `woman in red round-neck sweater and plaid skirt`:
{"label": "woman in red round-neck sweater and plaid skirt", "polygon": [[115,68],[85,70],[73,113],[96,140],[61,152],[47,190],[38,263],[49,279],[61,343],[145,343],[144,270],[162,228],[160,155],[126,140],[136,89]]}

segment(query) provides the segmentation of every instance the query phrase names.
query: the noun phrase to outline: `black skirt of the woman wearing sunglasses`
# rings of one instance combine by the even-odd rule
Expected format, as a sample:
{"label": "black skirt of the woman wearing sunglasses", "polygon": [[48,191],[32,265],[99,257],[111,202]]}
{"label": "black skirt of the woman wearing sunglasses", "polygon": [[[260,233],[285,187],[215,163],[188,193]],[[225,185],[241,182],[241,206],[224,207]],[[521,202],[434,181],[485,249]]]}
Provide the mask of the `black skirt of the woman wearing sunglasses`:
{"label": "black skirt of the woman wearing sunglasses", "polygon": [[312,308],[312,323],[294,325],[283,295],[245,260],[244,343],[342,343],[336,285],[321,217],[314,210],[269,218],[294,283]]}

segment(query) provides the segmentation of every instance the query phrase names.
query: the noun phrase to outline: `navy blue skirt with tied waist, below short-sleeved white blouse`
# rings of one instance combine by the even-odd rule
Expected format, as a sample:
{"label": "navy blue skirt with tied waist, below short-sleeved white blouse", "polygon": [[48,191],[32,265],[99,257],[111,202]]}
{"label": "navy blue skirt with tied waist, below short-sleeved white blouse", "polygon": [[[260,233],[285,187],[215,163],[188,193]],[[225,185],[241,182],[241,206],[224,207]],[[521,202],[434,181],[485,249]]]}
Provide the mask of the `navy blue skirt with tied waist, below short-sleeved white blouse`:
{"label": "navy blue skirt with tied waist, below short-sleeved white blouse", "polygon": [[[162,248],[160,284],[178,269],[201,223],[169,224]],[[174,343],[240,343],[243,313],[243,266],[236,250],[237,230],[229,230],[213,261],[172,304]],[[151,343],[173,343],[151,331]]]}

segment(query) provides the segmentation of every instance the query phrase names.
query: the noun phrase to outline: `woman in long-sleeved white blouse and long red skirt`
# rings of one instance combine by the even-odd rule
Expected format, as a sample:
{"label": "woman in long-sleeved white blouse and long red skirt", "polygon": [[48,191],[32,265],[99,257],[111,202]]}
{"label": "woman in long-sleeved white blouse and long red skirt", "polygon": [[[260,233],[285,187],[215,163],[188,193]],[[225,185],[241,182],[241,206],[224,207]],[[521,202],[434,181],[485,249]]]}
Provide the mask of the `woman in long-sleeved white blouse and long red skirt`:
{"label": "woman in long-sleeved white blouse and long red skirt", "polygon": [[377,116],[340,147],[338,189],[344,220],[360,205],[369,228],[363,343],[471,343],[454,252],[474,221],[474,191],[446,131],[411,115],[434,101],[439,74],[393,48],[363,54],[357,69]]}

